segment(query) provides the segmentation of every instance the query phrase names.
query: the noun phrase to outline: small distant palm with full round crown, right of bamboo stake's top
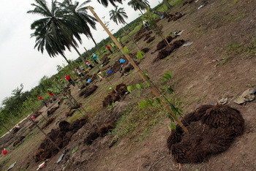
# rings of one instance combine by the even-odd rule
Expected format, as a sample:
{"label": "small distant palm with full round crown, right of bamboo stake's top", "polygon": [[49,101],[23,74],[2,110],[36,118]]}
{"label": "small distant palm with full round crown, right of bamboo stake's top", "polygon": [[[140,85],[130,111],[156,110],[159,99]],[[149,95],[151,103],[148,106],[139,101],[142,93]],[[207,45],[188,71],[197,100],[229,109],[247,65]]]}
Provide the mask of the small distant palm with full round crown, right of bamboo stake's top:
{"label": "small distant palm with full round crown, right of bamboo stake's top", "polygon": [[118,22],[119,23],[126,23],[124,18],[128,18],[127,13],[124,11],[124,8],[118,8],[118,6],[116,6],[115,10],[110,10],[110,20],[113,20],[117,25]]}

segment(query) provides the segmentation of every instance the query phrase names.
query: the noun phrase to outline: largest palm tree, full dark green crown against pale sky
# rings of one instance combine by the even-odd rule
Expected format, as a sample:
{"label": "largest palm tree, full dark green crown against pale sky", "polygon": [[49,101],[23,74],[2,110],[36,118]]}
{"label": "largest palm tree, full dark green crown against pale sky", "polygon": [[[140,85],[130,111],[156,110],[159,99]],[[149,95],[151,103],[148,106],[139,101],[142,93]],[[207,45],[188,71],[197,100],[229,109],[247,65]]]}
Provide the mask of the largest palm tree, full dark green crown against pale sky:
{"label": "largest palm tree, full dark green crown against pale sky", "polygon": [[[31,24],[31,29],[35,30],[31,37],[37,37],[35,47],[38,47],[41,52],[45,47],[50,57],[57,54],[64,57],[65,47],[70,50],[72,46],[77,50],[77,40],[82,42],[79,35],[83,33],[81,27],[73,20],[68,20],[63,10],[58,7],[56,0],[51,1],[50,8],[45,0],[34,1],[35,3],[31,4],[34,9],[29,10],[28,13],[44,17]],[[67,61],[67,58],[65,60]]]}

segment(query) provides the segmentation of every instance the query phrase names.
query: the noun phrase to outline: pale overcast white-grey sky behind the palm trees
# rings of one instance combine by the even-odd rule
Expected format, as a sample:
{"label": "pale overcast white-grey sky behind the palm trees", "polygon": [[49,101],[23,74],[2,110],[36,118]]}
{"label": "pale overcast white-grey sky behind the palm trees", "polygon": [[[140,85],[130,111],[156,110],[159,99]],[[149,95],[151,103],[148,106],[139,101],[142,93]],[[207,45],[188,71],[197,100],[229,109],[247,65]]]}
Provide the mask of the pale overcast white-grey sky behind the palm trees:
{"label": "pale overcast white-grey sky behind the palm trees", "polygon": [[[46,0],[50,4],[51,0]],[[61,1],[61,0],[59,0]],[[77,0],[80,4],[83,2]],[[125,0],[123,4],[117,4],[118,7],[124,7],[127,12],[127,23],[131,22],[135,18],[138,18],[139,11],[135,12],[131,7],[127,5],[129,0]],[[159,4],[158,0],[148,0],[151,7],[155,7]],[[29,91],[31,88],[38,85],[39,80],[44,76],[50,77],[57,73],[56,66],[66,64],[64,58],[57,56],[56,58],[50,58],[45,51],[43,54],[34,49],[35,38],[30,37],[33,31],[30,29],[31,23],[34,20],[42,18],[40,15],[28,14],[27,11],[34,9],[31,4],[34,0],[8,0],[0,1],[0,105],[3,99],[12,95],[12,90],[20,86],[23,83],[23,91]],[[103,7],[97,2],[97,0],[91,0],[91,7],[94,7],[94,11],[102,18],[103,22],[110,21],[109,11],[114,9],[110,4],[108,8]],[[89,11],[88,11],[89,12]],[[90,15],[91,12],[89,12]],[[104,18],[105,17],[105,18]],[[104,18],[104,19],[103,19]],[[121,24],[116,25],[113,21],[110,21],[108,26],[110,30],[113,29],[113,33],[121,28]],[[108,34],[103,31],[102,26],[97,23],[97,30],[91,28],[92,35],[96,42],[100,42],[102,39],[108,37]],[[94,47],[94,43],[91,39],[87,39],[85,36],[81,36],[83,43],[79,45],[78,50],[80,53],[84,53],[83,47],[91,49]],[[65,55],[68,59],[78,58],[78,53],[75,50],[69,52],[65,51]]]}

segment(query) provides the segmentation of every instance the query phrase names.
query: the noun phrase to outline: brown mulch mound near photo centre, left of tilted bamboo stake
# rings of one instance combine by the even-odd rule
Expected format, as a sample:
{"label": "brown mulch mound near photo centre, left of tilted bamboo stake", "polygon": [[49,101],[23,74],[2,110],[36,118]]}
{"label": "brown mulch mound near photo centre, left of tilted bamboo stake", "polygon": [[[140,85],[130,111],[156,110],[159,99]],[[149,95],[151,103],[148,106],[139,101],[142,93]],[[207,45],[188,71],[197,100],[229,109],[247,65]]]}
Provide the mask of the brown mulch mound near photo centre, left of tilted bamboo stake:
{"label": "brown mulch mound near photo centre, left of tilted bamboo stake", "polygon": [[102,102],[103,107],[107,107],[108,105],[111,105],[113,102],[116,102],[119,99],[121,99],[121,97],[128,92],[127,86],[121,83],[118,86],[116,86],[116,91],[111,91],[110,94],[108,94],[108,96],[105,97],[104,101]]}

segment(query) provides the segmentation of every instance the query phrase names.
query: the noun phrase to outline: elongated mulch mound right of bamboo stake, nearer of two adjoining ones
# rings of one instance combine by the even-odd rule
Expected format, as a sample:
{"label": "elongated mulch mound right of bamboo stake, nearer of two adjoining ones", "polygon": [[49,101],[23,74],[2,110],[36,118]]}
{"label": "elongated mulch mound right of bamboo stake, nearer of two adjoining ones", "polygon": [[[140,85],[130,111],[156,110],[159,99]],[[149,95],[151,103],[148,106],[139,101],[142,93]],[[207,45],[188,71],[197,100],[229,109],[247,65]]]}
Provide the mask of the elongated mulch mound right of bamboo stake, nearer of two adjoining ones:
{"label": "elongated mulch mound right of bamboo stake, nearer of two adjoining ones", "polygon": [[165,49],[159,51],[157,58],[154,58],[153,62],[166,58],[170,55],[170,53],[173,52],[173,50],[176,50],[178,47],[181,47],[181,45],[183,45],[184,42],[185,41],[183,39],[176,40],[175,42],[173,42],[173,44],[170,44],[170,46],[165,47]]}

